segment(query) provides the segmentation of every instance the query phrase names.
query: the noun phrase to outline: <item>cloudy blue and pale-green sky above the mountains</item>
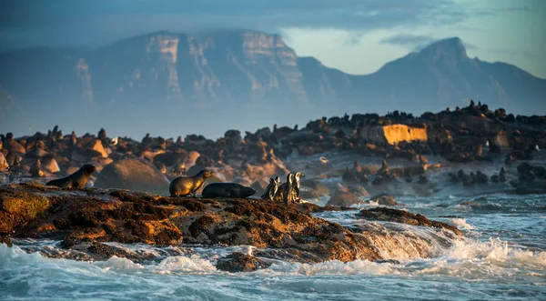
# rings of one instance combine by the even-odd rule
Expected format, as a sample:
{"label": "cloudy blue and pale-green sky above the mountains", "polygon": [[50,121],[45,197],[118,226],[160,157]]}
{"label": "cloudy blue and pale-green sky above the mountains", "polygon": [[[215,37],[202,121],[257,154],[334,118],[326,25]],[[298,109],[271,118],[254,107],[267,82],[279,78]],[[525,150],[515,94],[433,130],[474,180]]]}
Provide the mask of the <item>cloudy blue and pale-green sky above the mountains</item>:
{"label": "cloudy blue and pale-green sky above the mountains", "polygon": [[0,50],[96,47],[158,30],[283,35],[299,56],[365,75],[446,37],[546,78],[546,0],[3,0]]}

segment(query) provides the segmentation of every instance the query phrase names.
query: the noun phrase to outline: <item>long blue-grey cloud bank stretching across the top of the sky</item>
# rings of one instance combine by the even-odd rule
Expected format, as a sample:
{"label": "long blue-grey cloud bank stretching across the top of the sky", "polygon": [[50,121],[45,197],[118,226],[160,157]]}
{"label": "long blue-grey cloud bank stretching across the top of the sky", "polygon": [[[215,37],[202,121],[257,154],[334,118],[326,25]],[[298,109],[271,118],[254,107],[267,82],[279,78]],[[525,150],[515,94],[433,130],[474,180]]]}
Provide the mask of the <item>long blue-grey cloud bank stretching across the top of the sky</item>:
{"label": "long blue-grey cloud bank stretching across the top of the sky", "polygon": [[453,0],[4,0],[0,38],[89,44],[157,30],[407,28],[460,23],[467,17],[461,6]]}

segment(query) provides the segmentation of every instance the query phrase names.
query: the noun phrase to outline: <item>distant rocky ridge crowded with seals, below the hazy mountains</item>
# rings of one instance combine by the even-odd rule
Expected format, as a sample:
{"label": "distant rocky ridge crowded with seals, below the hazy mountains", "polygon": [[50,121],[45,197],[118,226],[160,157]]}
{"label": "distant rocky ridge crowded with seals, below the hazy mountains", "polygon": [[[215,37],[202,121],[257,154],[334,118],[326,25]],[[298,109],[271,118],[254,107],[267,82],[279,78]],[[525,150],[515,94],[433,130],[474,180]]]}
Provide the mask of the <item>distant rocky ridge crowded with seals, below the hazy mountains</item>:
{"label": "distant rocky ridge crowded with seals, below the hazy mountains", "polygon": [[[91,176],[91,184],[167,195],[168,180],[210,169],[215,172],[210,181],[252,186],[259,196],[269,178],[301,171],[309,177],[341,177],[349,184],[356,183],[336,189],[344,193],[343,202],[352,198],[358,203],[356,196],[347,193],[369,196],[366,190],[375,187],[379,187],[375,189],[378,192],[392,193],[392,185],[397,183],[403,188],[428,187],[431,170],[447,172],[452,166],[482,163],[499,170],[495,175],[480,170],[451,170],[441,182],[473,186],[487,184],[490,178],[491,183],[501,185],[499,189],[546,193],[544,166],[532,161],[546,149],[546,116],[514,116],[473,101],[466,107],[448,108],[437,114],[417,116],[394,111],[384,116],[323,117],[303,128],[264,127],[245,135],[227,130],[217,140],[203,135],[187,135],[184,139],[146,135],[136,141],[109,138],[104,129],[98,135],[64,135],[57,126],[47,134],[15,138],[7,133],[0,139],[0,172],[6,172],[0,173],[2,181],[6,177],[32,177],[45,182],[44,177],[68,175],[84,164],[92,164],[97,172]],[[329,165],[327,157],[319,160],[318,156],[330,154],[354,156],[355,160],[377,157],[383,164],[379,168],[359,166],[358,162],[353,166],[350,162],[353,168],[349,169],[349,165]],[[317,157],[306,159],[311,156]],[[303,165],[294,163],[298,157],[303,158]],[[429,163],[432,158],[437,161]],[[396,168],[389,168],[387,161],[391,160],[398,162]],[[303,181],[302,186],[303,197],[334,196],[318,182]],[[427,192],[416,194],[426,196]]]}

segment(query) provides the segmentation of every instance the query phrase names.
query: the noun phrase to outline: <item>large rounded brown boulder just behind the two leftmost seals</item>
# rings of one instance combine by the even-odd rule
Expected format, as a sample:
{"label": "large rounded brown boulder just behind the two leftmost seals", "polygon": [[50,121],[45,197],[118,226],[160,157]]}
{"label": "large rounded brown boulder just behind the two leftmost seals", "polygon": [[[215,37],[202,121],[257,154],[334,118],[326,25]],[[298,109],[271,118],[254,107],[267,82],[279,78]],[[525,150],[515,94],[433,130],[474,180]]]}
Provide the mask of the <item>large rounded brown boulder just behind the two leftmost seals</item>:
{"label": "large rounded brown boulder just behind the two leftmost seals", "polygon": [[96,187],[121,188],[167,196],[169,182],[156,168],[138,159],[123,159],[106,166]]}

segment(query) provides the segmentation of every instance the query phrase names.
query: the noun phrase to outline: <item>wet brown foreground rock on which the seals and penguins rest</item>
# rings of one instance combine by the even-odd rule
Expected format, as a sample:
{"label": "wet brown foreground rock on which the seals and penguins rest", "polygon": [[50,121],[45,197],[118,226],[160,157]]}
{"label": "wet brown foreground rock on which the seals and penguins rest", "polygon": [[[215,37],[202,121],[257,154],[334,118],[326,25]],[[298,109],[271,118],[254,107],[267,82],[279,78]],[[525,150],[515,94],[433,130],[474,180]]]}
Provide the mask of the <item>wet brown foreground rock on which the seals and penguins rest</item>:
{"label": "wet brown foreground rock on which the seals and penguins rest", "polygon": [[[0,186],[0,202],[0,236],[60,238],[63,247],[84,250],[95,258],[124,256],[123,250],[99,244],[120,242],[156,246],[180,243],[257,246],[263,249],[262,257],[282,254],[311,262],[381,259],[377,246],[369,245],[366,238],[371,230],[368,234],[355,232],[309,215],[309,211],[319,211],[316,205],[165,197],[125,190],[60,189],[34,184]],[[411,225],[441,224],[398,211],[384,212],[382,216],[393,216],[389,218],[401,222],[415,220]],[[458,233],[454,227],[446,228]],[[242,254],[228,256],[218,265],[230,271],[267,266]]]}

